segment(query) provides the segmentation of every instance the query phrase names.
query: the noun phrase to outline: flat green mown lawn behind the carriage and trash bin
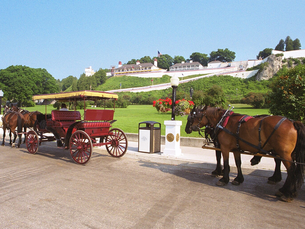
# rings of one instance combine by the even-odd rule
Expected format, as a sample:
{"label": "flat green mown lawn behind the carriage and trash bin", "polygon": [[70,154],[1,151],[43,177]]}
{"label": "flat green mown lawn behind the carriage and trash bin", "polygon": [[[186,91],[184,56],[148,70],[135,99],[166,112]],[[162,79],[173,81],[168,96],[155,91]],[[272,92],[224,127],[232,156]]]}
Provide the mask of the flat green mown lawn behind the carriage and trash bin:
{"label": "flat green mown lawn behind the carriage and trash bin", "polygon": [[[246,104],[232,104],[235,108],[233,111],[235,113],[245,114],[245,115],[263,115],[269,114],[269,109],[253,109],[253,107]],[[101,107],[88,109],[103,109]],[[24,107],[24,109],[28,111],[40,111],[41,113],[45,113],[45,109],[47,113],[51,113],[54,110],[52,105],[36,105],[35,107]],[[79,110],[81,115],[84,114],[84,110]],[[186,125],[187,116],[180,117],[176,116],[176,120],[182,121],[181,126],[181,136],[182,137],[200,137],[198,132],[192,134],[186,134],[184,129]],[[164,120],[171,119],[171,113],[161,113],[159,114],[155,107],[152,105],[130,105],[127,108],[116,108],[114,113],[114,119],[117,122],[113,123],[113,127],[117,127],[122,129],[125,133],[138,133],[139,122],[144,121],[155,121],[161,123],[161,135],[165,135],[165,125]]]}

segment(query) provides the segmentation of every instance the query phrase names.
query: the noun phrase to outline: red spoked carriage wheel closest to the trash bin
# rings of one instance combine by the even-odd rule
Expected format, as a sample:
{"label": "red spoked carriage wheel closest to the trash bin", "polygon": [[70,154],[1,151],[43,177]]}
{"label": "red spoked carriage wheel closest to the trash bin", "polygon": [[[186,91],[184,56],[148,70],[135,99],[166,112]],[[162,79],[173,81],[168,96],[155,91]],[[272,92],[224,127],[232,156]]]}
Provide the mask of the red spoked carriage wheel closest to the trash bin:
{"label": "red spoked carriage wheel closest to the trash bin", "polygon": [[128,147],[127,137],[123,132],[123,130],[119,128],[113,128],[109,130],[109,133],[110,132],[113,133],[107,136],[106,142],[111,142],[111,144],[106,145],[106,149],[111,156],[115,158],[120,158],[127,151],[127,147]]}

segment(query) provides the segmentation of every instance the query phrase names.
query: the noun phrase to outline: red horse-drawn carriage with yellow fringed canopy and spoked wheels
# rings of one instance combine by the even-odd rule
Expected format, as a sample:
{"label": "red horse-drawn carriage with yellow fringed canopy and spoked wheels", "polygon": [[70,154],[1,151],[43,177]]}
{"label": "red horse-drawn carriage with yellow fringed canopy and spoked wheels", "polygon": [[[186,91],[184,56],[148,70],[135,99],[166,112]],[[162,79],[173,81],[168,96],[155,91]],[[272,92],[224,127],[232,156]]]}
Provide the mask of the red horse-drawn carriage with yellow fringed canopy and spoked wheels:
{"label": "red horse-drawn carriage with yellow fringed canopy and spoked wheels", "polygon": [[[76,91],[56,94],[34,95],[33,100],[58,100],[74,102],[74,111],[53,110],[51,114],[38,114],[35,127],[26,133],[26,147],[31,154],[38,151],[39,145],[45,141],[56,141],[57,147],[69,149],[74,162],[87,164],[94,146],[106,146],[113,157],[122,157],[127,151],[127,137],[118,128],[112,128],[114,109],[86,109],[85,101],[113,99],[114,93],[101,91]],[[84,116],[76,110],[76,102],[84,101]],[[47,109],[45,109],[47,110]]]}

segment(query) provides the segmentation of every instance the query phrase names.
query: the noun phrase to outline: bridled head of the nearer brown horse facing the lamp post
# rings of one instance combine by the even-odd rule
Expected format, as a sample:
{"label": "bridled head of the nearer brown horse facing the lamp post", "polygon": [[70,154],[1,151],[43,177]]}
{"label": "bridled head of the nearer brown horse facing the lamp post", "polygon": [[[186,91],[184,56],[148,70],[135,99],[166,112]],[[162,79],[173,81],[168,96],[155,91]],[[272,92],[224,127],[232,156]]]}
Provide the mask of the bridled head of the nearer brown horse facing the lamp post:
{"label": "bridled head of the nearer brown horse facing the lamp post", "polygon": [[192,111],[188,115],[187,118],[188,121],[185,126],[185,132],[187,134],[190,134],[193,131],[199,131],[200,128],[205,126],[205,125],[201,125],[201,123],[205,121],[203,120],[203,118],[205,118],[203,112],[206,111],[207,108],[208,106],[204,106],[203,108],[199,108],[196,106],[193,107]]}

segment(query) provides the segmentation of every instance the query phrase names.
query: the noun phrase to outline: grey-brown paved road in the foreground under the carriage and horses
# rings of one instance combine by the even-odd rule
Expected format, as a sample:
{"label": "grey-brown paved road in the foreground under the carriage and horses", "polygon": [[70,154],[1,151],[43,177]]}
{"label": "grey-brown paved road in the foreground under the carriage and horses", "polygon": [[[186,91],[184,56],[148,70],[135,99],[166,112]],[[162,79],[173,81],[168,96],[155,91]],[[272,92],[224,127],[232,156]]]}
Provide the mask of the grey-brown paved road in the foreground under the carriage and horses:
{"label": "grey-brown paved road in the foreground under the carriage and horses", "polygon": [[305,191],[281,202],[273,194],[283,181],[245,175],[241,186],[217,187],[210,170],[96,149],[85,166],[46,145],[35,155],[0,146],[0,155],[0,228],[305,227]]}

